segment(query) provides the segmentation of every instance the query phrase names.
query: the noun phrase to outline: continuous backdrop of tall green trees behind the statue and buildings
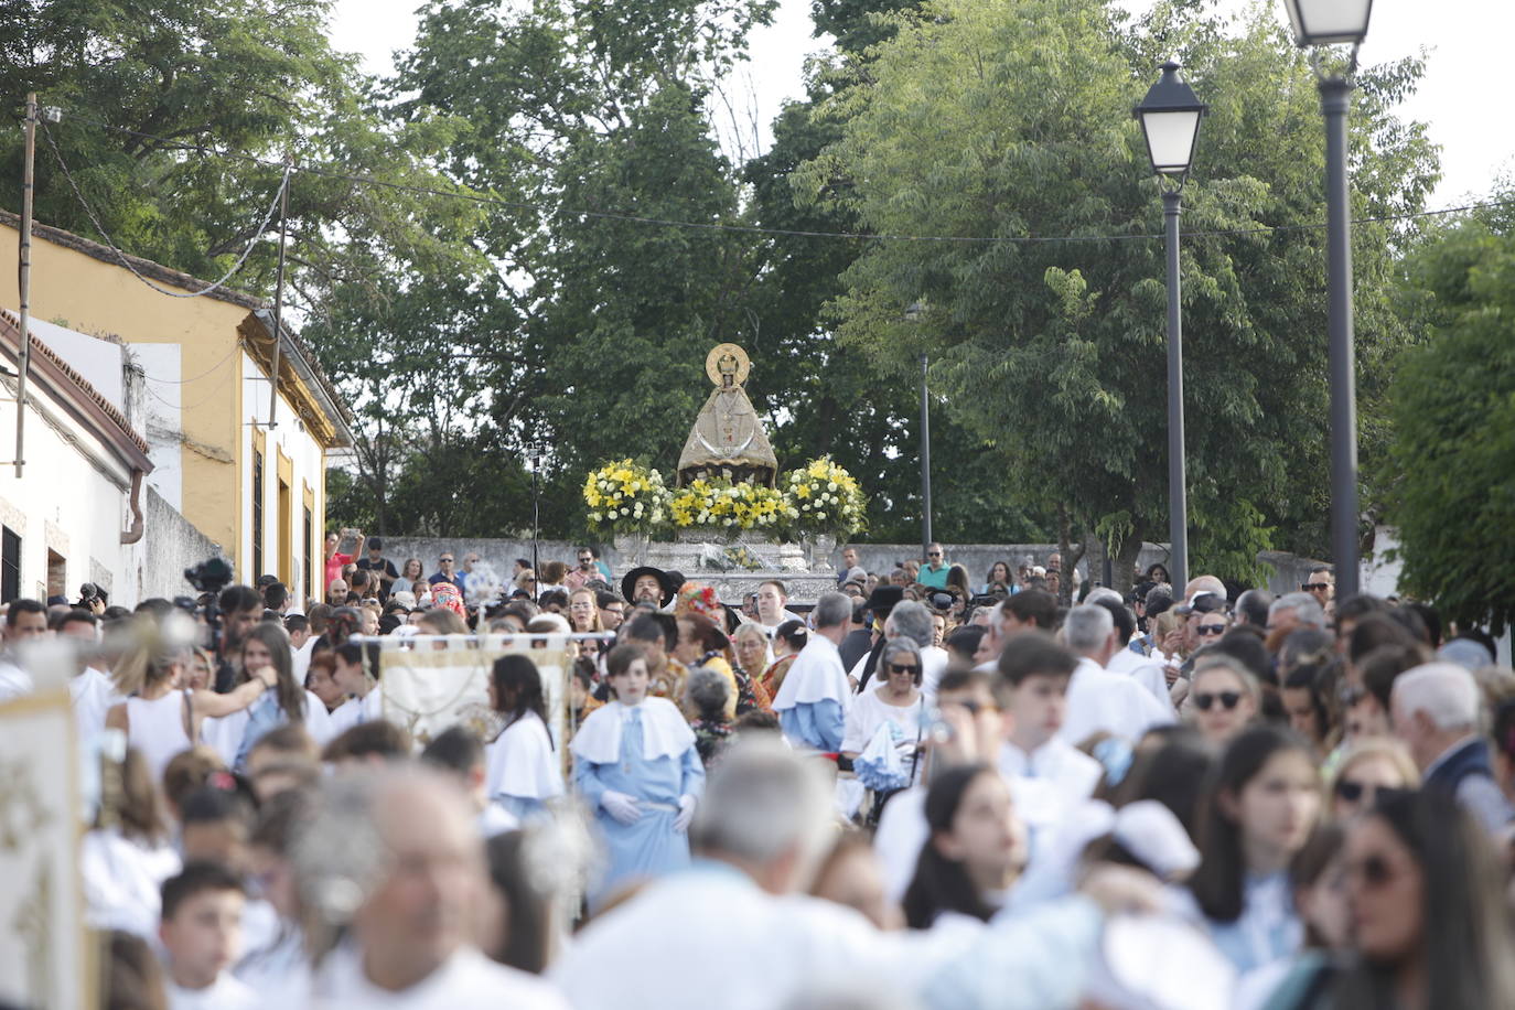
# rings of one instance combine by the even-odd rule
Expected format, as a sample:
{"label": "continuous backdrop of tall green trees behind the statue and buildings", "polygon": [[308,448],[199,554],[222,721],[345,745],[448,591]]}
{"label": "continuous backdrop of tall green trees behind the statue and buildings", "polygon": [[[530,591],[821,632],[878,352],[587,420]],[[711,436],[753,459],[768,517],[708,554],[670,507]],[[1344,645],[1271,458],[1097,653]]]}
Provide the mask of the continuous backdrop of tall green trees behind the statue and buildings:
{"label": "continuous backdrop of tall green trees behind the statue and buildings", "polygon": [[[774,0],[430,0],[385,80],[330,48],[329,8],[0,2],[0,86],[67,109],[53,138],[114,241],[200,276],[295,159],[294,312],[361,419],[339,521],[517,533],[539,457],[544,530],[579,535],[585,468],[671,469],[733,341],[780,463],[832,453],[876,539],[920,530],[923,354],[939,538],[1164,539],[1162,218],[1130,108],[1174,56],[1210,104],[1183,194],[1195,566],[1324,554],[1323,132],[1274,11],[817,0],[835,45],[747,157],[712,109]],[[1394,294],[1395,218],[1436,176],[1394,114],[1421,70],[1354,95],[1367,474],[1432,326]],[[18,157],[0,144],[12,204]],[[39,220],[97,236],[45,144],[38,174]],[[267,295],[271,265],[265,236],[232,283]]]}

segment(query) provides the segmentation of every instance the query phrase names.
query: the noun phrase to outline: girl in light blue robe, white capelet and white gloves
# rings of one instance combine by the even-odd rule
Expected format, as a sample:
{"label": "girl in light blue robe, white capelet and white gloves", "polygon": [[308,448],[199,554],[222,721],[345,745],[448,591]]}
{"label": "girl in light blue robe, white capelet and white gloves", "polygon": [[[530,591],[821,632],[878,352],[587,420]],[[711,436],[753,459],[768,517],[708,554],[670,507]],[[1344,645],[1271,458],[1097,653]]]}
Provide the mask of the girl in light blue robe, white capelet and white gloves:
{"label": "girl in light blue robe, white capelet and white gloves", "polygon": [[632,883],[689,863],[689,821],[704,789],[694,731],[667,698],[647,697],[647,653],[611,650],[606,671],[615,700],[595,709],[570,748],[574,784],[594,809],[609,868],[591,910]]}

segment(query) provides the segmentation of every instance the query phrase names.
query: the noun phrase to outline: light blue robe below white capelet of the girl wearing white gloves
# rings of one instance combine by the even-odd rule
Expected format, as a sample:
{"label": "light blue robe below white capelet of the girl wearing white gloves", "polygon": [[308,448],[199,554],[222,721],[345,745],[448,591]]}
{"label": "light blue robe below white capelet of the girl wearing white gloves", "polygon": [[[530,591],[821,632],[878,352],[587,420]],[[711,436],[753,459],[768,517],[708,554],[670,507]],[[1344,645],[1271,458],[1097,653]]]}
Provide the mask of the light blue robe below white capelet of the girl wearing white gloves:
{"label": "light blue robe below white capelet of the girl wearing white gloves", "polygon": [[[673,822],[679,816],[679,798],[698,796],[704,787],[704,766],[692,743],[677,757],[644,757],[641,715],[632,709],[621,725],[620,760],[597,765],[579,757],[574,762],[574,784],[594,806],[609,857],[604,877],[589,895],[591,910],[632,881],[689,865],[689,836],[674,831]],[[606,790],[635,796],[642,816],[635,824],[615,821],[600,806]]]}

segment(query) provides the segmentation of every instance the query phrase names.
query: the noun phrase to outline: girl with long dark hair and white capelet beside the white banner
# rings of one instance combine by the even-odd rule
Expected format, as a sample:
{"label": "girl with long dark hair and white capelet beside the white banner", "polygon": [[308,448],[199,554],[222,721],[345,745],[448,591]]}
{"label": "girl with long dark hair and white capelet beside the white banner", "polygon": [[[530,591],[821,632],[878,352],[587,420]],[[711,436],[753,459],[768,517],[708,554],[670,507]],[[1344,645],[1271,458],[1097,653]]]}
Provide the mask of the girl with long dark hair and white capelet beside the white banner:
{"label": "girl with long dark hair and white capelet beside the white banner", "polygon": [[564,792],[536,663],[520,654],[494,660],[489,707],[504,718],[504,728],[488,747],[485,790],[524,822]]}

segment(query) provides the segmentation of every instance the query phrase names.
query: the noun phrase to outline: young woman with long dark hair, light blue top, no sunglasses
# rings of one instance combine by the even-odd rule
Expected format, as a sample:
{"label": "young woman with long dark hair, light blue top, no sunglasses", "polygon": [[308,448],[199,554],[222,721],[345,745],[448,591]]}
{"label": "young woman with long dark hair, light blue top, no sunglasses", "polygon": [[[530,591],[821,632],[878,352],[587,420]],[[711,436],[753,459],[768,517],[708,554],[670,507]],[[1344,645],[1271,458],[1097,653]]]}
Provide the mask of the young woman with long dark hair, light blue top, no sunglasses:
{"label": "young woman with long dark hair, light blue top, no sunglasses", "polygon": [[1192,910],[1210,939],[1248,972],[1291,957],[1304,937],[1289,862],[1315,830],[1321,781],[1309,745],[1259,725],[1227,745],[1200,800],[1200,866]]}

